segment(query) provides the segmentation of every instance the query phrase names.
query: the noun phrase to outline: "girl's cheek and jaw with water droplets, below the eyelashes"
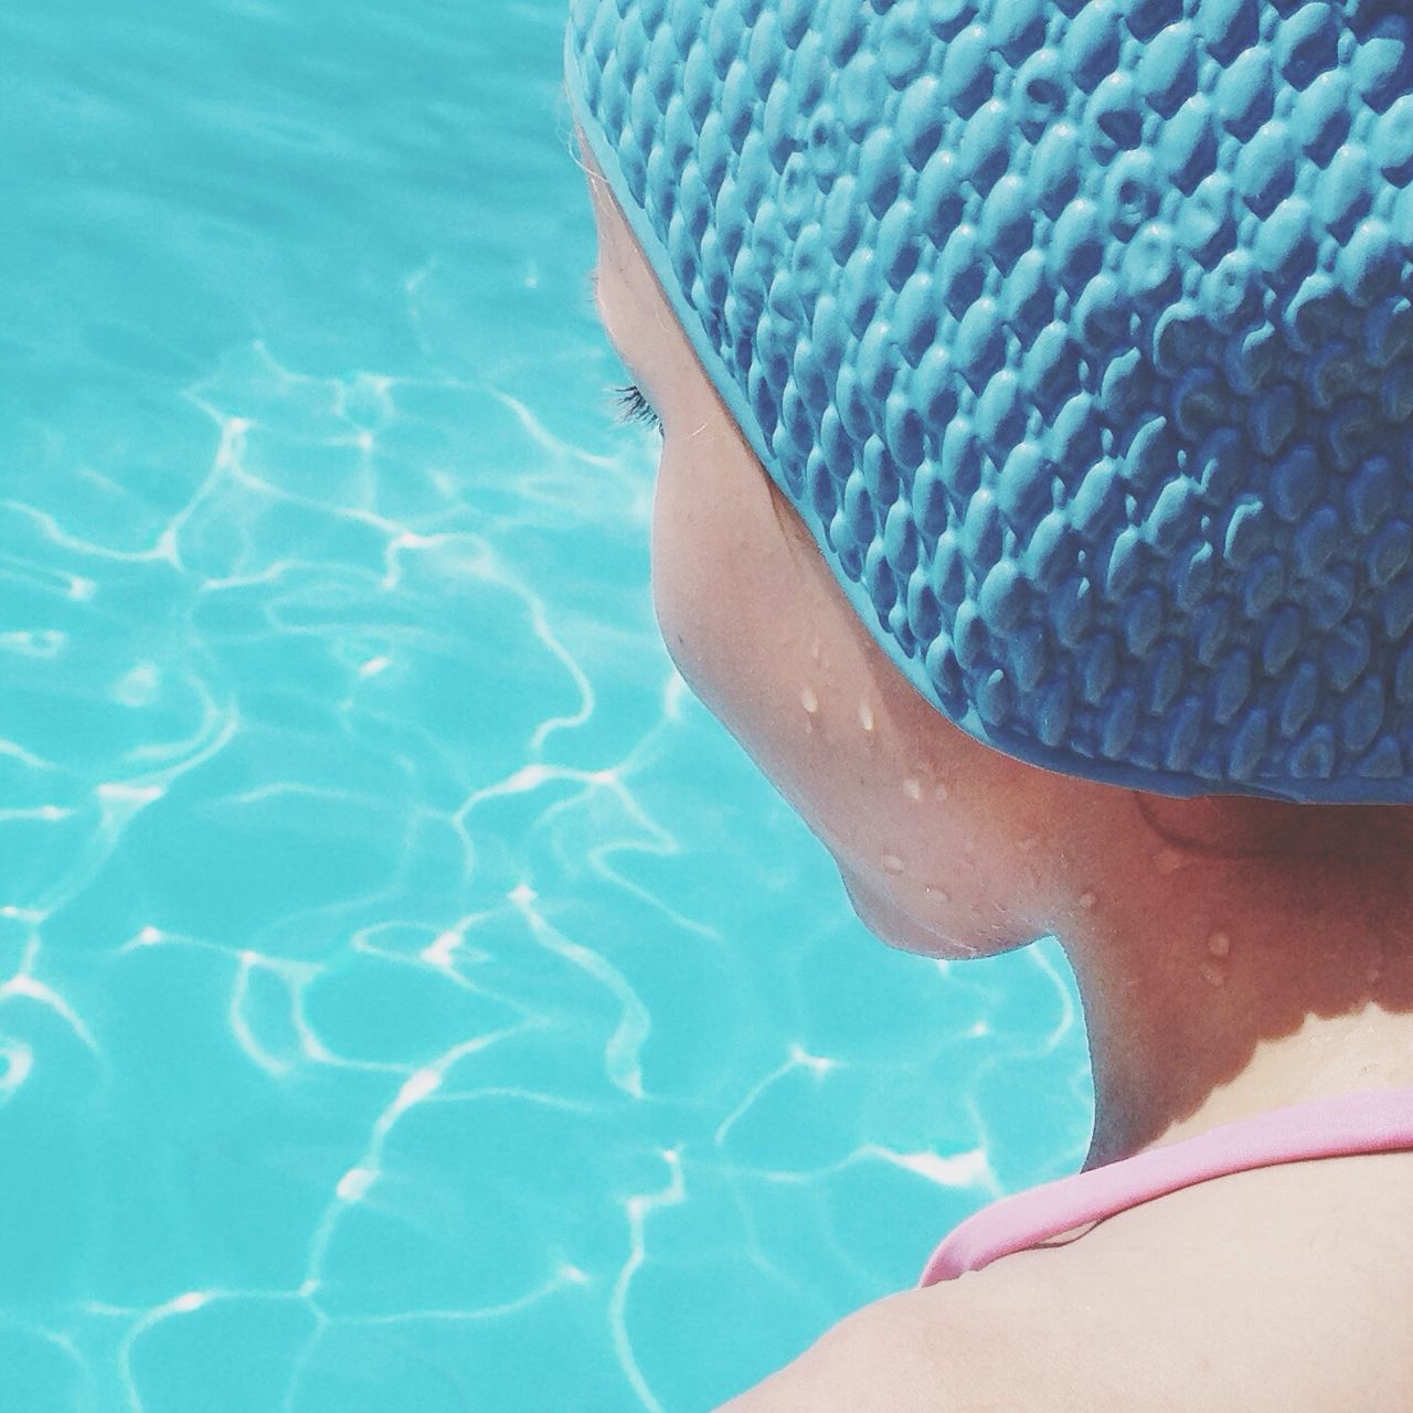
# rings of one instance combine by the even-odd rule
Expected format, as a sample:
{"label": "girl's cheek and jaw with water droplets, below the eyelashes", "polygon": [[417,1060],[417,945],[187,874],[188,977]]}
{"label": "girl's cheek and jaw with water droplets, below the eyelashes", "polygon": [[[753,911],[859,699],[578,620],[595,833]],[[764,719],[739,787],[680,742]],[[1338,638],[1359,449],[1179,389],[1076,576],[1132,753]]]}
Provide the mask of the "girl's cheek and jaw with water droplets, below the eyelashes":
{"label": "girl's cheek and jaw with water droplets, below the eyelashes", "polygon": [[1009,763],[913,691],[810,554],[753,461],[668,438],[653,602],[684,680],[829,848],[876,935],[937,957],[1029,941],[1006,906],[1020,861],[993,838]]}

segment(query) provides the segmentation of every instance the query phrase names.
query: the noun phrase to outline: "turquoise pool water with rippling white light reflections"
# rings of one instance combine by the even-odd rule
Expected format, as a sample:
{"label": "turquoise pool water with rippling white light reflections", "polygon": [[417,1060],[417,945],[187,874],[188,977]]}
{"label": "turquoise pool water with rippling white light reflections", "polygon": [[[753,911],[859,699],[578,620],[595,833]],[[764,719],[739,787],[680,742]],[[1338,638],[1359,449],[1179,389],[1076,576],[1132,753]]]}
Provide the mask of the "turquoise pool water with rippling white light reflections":
{"label": "turquoise pool water with rippling white light reflections", "polygon": [[560,0],[0,16],[0,1409],[705,1409],[1089,1116],[690,698]]}

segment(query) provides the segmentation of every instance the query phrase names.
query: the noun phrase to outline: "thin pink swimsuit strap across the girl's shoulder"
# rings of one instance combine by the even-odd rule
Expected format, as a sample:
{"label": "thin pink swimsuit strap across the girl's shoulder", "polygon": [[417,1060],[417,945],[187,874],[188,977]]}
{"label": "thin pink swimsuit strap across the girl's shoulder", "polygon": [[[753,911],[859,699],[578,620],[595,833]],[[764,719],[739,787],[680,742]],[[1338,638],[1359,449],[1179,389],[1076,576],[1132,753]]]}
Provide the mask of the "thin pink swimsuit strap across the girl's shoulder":
{"label": "thin pink swimsuit strap across the girl's shoulder", "polygon": [[1228,1173],[1402,1149],[1413,1149],[1413,1089],[1371,1089],[1272,1109],[1002,1198],[951,1232],[918,1284],[981,1270],[1061,1232]]}

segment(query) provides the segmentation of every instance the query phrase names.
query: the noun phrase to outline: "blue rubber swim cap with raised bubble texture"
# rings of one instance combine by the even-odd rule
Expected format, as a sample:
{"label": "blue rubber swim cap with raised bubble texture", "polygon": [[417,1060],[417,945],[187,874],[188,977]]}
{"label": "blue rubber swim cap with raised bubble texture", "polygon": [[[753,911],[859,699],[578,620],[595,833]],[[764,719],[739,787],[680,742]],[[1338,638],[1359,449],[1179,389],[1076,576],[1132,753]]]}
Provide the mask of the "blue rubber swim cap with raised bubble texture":
{"label": "blue rubber swim cap with raised bubble texture", "polygon": [[1405,6],[572,0],[702,367],[981,740],[1413,800]]}

